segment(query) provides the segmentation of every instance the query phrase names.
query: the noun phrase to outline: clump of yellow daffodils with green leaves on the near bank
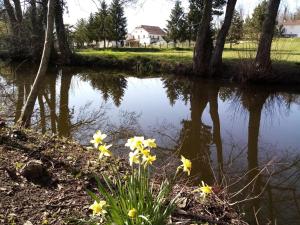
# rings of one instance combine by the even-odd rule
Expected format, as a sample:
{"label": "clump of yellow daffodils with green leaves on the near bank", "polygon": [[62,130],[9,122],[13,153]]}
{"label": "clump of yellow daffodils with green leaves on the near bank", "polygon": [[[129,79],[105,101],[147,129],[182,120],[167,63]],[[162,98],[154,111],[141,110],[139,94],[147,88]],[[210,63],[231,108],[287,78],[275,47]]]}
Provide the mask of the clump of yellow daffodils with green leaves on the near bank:
{"label": "clump of yellow daffodils with green leaves on the near bank", "polygon": [[[97,131],[91,140],[94,148],[99,151],[99,158],[112,157],[110,148],[104,139],[107,137],[101,131]],[[151,184],[150,166],[156,161],[156,155],[152,149],[157,148],[155,139],[144,137],[130,138],[125,144],[130,149],[129,164],[132,173],[126,179],[120,177],[112,166],[114,180],[103,175],[106,185],[99,181],[98,190],[105,201],[100,201],[93,193],[88,191],[94,199],[90,206],[94,218],[100,218],[107,224],[164,224],[175,209],[176,198],[168,201],[172,186],[174,185],[177,172],[182,170],[188,175],[191,173],[192,163],[181,156],[182,165],[177,169],[174,180],[165,180],[159,190],[154,190]],[[97,179],[97,178],[96,178]],[[112,188],[112,184],[114,188]]]}

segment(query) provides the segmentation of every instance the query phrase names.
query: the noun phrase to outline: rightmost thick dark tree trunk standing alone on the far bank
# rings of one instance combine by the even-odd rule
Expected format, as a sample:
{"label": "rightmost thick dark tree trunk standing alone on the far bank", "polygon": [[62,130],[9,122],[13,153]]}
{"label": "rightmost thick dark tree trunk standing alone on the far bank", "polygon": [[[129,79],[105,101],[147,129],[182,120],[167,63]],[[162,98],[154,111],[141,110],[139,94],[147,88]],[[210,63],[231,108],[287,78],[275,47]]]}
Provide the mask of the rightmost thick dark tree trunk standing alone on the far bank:
{"label": "rightmost thick dark tree trunk standing alone on the far bank", "polygon": [[269,0],[255,59],[256,71],[259,74],[268,74],[272,70],[271,47],[279,5],[280,0]]}

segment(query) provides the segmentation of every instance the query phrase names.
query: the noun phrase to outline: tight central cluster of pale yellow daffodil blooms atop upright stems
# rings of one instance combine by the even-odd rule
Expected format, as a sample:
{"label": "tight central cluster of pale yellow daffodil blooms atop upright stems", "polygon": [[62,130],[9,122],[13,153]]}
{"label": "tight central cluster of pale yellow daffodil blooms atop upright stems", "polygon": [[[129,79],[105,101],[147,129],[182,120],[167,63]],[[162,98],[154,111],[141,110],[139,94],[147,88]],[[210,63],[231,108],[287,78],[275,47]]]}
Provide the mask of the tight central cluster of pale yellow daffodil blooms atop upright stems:
{"label": "tight central cluster of pale yellow daffodil blooms atop upright stems", "polygon": [[128,139],[125,144],[129,147],[131,152],[129,153],[129,164],[144,165],[145,167],[152,165],[156,161],[156,156],[151,155],[151,149],[156,148],[155,139],[147,139],[144,137],[133,137]]}

